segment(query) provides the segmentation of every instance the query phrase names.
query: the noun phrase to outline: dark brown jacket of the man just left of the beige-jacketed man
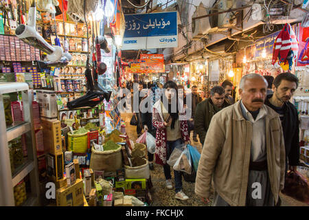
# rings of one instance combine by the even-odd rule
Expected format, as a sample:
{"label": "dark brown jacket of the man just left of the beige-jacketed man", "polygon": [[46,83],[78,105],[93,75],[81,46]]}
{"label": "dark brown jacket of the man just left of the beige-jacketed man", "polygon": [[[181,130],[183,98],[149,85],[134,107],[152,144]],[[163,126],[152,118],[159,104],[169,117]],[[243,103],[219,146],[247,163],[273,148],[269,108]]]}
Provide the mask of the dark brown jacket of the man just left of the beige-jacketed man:
{"label": "dark brown jacket of the man just left of the beige-jacketed man", "polygon": [[222,108],[218,108],[212,103],[211,98],[207,98],[203,100],[203,102],[198,103],[194,115],[194,130],[198,133],[202,145],[204,144],[212,116],[229,105],[230,104],[225,100],[222,104]]}

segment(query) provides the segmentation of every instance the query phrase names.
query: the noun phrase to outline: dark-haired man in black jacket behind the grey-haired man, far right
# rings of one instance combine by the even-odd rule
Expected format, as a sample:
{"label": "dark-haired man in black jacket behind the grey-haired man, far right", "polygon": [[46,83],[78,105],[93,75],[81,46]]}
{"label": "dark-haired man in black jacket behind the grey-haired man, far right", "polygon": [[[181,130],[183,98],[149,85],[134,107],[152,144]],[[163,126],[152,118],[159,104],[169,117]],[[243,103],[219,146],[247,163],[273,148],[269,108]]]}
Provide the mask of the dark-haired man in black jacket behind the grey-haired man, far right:
{"label": "dark-haired man in black jacket behind the grey-haired man, far right", "polygon": [[296,170],[299,164],[299,120],[297,109],[289,102],[298,87],[294,74],[279,74],[273,81],[273,95],[267,96],[265,104],[279,113],[286,148],[286,172]]}

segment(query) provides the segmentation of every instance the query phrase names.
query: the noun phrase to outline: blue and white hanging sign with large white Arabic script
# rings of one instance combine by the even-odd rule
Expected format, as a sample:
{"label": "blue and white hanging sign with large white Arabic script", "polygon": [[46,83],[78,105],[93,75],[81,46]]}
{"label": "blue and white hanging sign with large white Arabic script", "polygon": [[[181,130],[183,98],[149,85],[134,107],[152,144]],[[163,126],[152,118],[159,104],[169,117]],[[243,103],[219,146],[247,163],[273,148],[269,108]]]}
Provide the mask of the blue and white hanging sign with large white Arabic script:
{"label": "blue and white hanging sign with large white Arabic script", "polygon": [[126,14],[122,50],[177,47],[177,12]]}

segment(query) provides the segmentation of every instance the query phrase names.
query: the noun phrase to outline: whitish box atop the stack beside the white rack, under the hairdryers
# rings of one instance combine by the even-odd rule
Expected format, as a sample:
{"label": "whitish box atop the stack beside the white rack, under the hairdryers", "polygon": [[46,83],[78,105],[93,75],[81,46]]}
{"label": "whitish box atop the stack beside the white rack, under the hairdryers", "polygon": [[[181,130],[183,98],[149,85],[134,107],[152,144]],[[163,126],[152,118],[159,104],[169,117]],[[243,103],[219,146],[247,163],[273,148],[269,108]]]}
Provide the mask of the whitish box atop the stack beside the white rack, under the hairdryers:
{"label": "whitish box atop the stack beside the white rack, under the hairdryers", "polygon": [[58,105],[56,92],[48,90],[36,90],[38,104],[40,105],[40,115],[44,118],[58,118]]}

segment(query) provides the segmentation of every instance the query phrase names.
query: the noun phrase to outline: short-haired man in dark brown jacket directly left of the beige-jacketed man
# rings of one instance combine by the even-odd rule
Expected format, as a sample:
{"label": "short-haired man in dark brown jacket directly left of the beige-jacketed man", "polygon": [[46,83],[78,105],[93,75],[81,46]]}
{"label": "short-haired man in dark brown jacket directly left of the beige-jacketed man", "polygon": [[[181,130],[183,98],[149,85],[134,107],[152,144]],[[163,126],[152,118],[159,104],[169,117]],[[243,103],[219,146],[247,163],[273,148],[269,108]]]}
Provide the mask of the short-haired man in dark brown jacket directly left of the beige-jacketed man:
{"label": "short-haired man in dark brown jacket directly left of the beige-jacketed man", "polygon": [[225,99],[225,89],[223,87],[213,87],[210,90],[210,98],[203,100],[196,106],[194,115],[194,130],[198,133],[203,146],[211,118],[221,109],[230,104]]}

